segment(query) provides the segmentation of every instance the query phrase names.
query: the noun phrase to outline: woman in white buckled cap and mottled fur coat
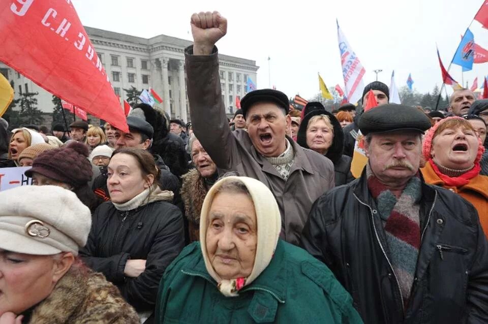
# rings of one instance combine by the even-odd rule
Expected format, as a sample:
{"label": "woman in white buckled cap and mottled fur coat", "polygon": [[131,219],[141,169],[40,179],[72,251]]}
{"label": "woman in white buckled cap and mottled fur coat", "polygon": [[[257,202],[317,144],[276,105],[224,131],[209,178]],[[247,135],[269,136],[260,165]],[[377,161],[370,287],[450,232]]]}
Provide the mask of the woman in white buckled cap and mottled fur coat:
{"label": "woman in white buckled cap and mottled fur coat", "polygon": [[0,192],[0,323],[138,323],[135,310],[78,257],[92,216],[58,186]]}

